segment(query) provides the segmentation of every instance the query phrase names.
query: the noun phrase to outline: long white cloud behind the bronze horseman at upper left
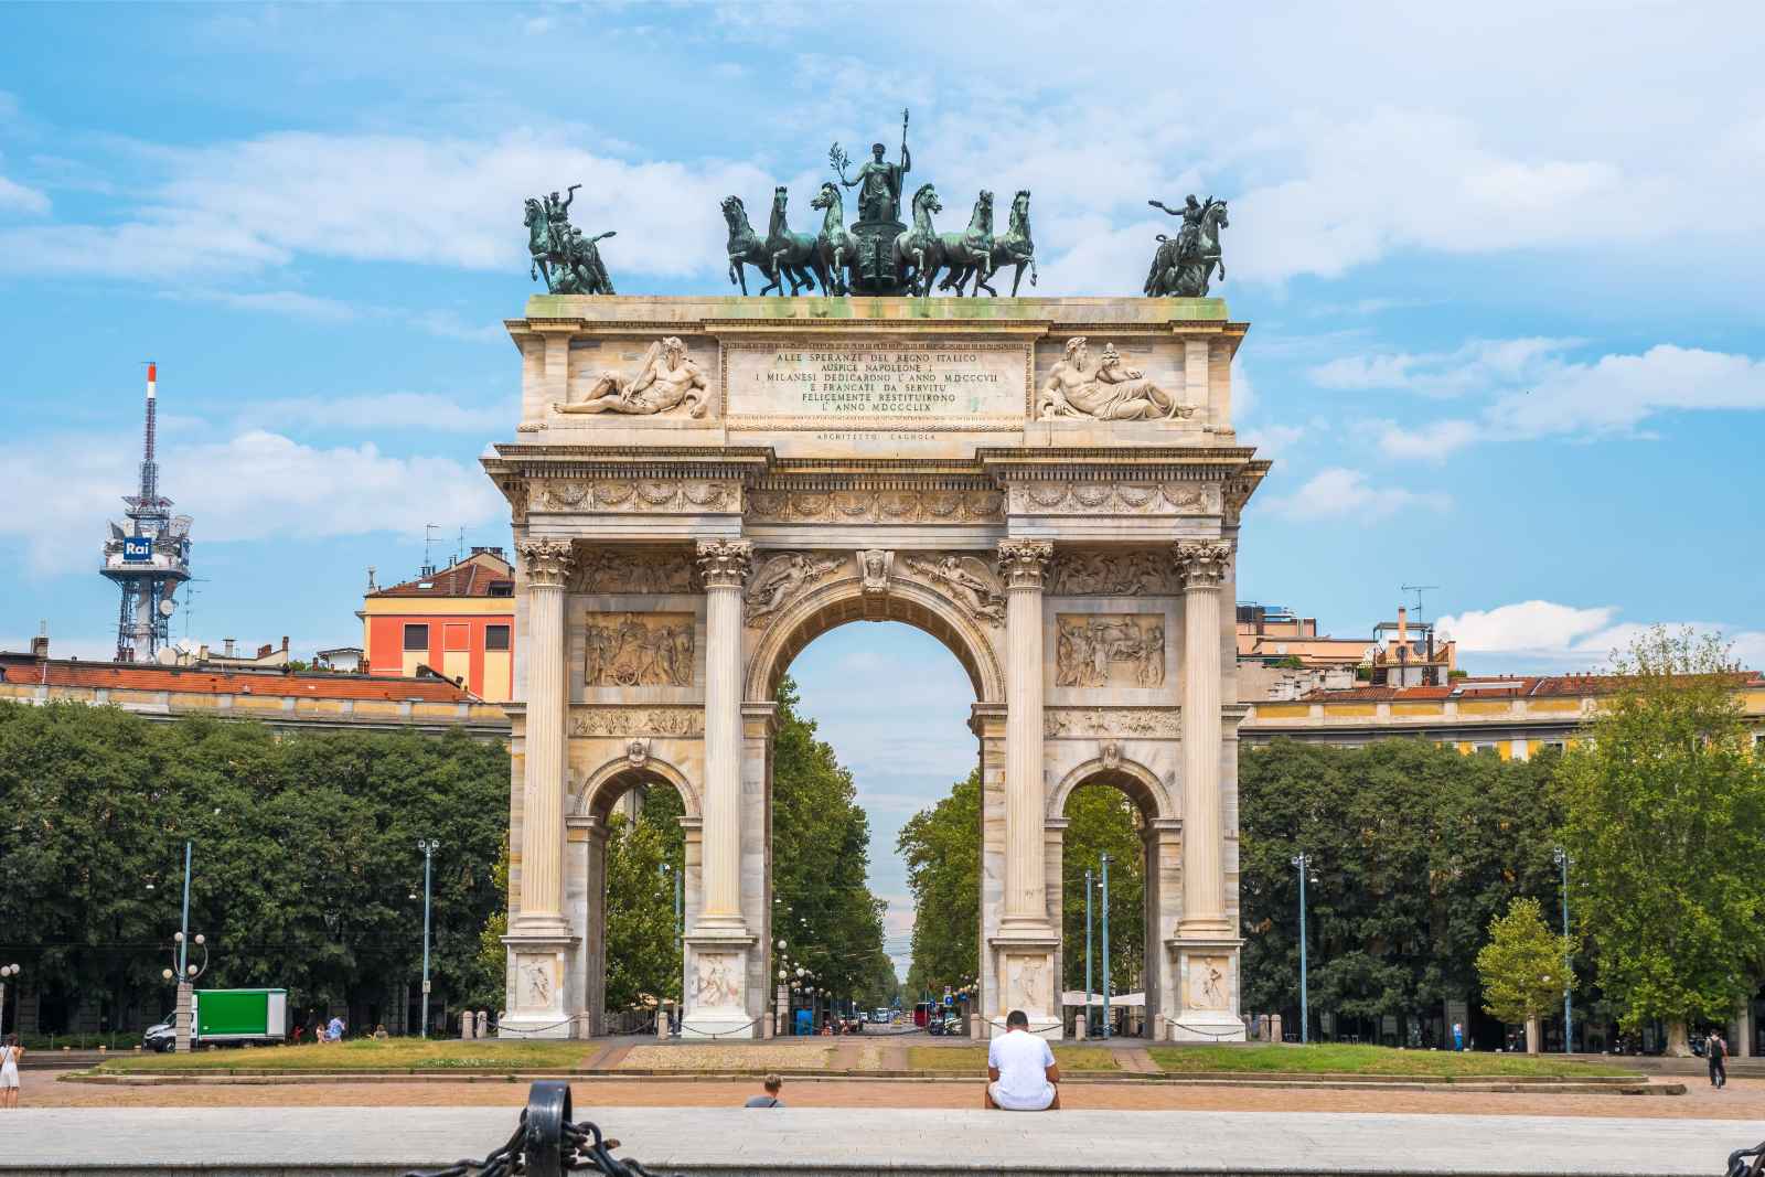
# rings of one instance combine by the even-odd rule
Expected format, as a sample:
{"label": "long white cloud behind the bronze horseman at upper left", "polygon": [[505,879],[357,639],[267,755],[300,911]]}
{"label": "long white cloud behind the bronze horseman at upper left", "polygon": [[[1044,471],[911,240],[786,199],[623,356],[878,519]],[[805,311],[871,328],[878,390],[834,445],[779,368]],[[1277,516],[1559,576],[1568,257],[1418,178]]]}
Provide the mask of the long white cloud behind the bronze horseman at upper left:
{"label": "long white cloud behind the bronze horseman at upper left", "polygon": [[[602,245],[609,268],[680,277],[722,268],[718,201],[770,187],[747,164],[627,162],[535,131],[496,139],[281,132],[161,155],[171,178],[129,221],[0,231],[0,268],[168,277],[305,254],[517,272],[528,265],[522,198],[568,175],[582,182],[572,219],[620,231]],[[69,233],[94,247],[65,249]]]}

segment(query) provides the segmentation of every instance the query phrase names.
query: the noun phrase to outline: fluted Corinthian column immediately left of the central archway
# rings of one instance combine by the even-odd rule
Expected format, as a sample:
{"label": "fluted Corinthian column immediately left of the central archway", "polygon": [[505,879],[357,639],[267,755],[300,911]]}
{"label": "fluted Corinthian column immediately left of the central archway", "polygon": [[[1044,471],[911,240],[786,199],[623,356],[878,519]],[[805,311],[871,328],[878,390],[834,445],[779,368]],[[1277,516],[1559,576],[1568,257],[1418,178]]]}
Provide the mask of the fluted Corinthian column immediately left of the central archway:
{"label": "fluted Corinthian column immediately left of the central archway", "polygon": [[699,540],[706,596],[701,926],[741,926],[741,586],[752,558],[747,540]]}

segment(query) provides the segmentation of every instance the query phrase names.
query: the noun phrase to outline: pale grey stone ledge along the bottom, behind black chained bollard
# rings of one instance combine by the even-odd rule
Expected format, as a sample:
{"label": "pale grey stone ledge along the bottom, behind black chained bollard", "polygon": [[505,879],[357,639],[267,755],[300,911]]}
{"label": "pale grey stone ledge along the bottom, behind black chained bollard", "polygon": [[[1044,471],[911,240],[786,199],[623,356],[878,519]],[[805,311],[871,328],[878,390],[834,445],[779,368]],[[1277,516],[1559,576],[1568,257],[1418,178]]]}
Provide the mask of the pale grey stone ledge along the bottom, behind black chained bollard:
{"label": "pale grey stone ledge along the bottom, behind black chained bollard", "polygon": [[[1638,1103],[1666,1103],[1640,1099]],[[1304,1112],[1057,1115],[577,1103],[653,1172],[1709,1175],[1758,1124]],[[37,1108],[0,1115],[0,1172],[395,1173],[484,1156],[503,1108]]]}

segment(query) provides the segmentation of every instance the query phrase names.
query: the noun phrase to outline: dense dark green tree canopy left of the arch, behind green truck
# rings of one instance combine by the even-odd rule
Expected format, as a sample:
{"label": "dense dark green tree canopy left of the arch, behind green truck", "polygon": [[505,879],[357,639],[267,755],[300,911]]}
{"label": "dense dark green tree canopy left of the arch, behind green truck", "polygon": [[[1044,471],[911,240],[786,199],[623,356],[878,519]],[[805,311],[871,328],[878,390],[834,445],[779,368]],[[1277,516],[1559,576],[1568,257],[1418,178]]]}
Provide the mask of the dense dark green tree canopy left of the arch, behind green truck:
{"label": "dense dark green tree canopy left of the arch, behind green truck", "polygon": [[501,745],[0,702],[0,926],[51,1002],[99,993],[113,1023],[138,1006],[169,1008],[161,971],[185,840],[205,986],[284,986],[295,1011],[385,1009],[399,981],[415,992],[417,840],[438,838],[436,993],[466,1004],[501,992],[501,971],[485,976],[477,951],[503,903],[492,877],[508,828]]}

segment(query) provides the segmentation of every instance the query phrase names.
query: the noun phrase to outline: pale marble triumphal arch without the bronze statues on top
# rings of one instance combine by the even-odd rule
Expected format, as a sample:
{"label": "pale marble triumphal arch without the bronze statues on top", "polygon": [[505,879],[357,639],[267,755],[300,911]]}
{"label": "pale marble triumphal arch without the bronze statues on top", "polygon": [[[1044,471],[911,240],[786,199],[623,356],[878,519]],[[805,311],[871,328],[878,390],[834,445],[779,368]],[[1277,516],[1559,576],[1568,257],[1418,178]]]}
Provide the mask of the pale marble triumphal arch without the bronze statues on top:
{"label": "pale marble triumphal arch without the bronze statues on top", "polygon": [[773,1032],[775,688],[817,633],[891,619],[974,686],[974,1032],[1059,1032],[1063,812],[1101,782],[1144,817],[1153,1032],[1243,1038],[1244,330],[1181,296],[533,296],[484,459],[519,552],[503,1032],[600,1029],[634,785],[685,806],[683,1032]]}

